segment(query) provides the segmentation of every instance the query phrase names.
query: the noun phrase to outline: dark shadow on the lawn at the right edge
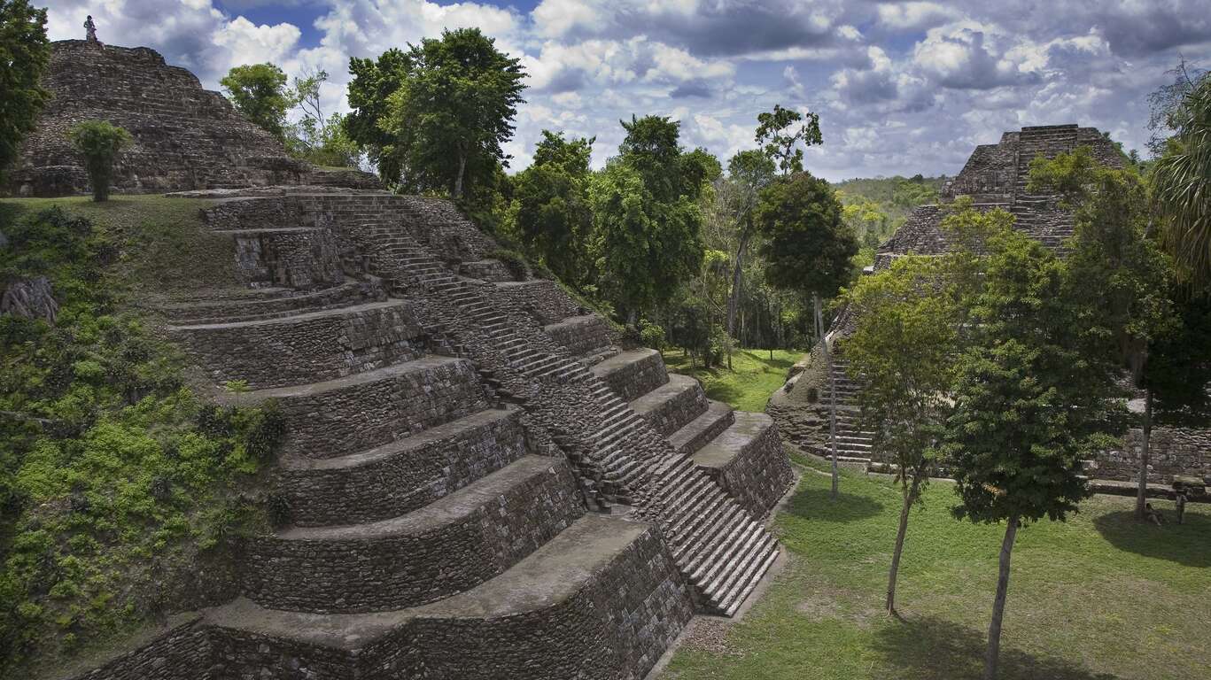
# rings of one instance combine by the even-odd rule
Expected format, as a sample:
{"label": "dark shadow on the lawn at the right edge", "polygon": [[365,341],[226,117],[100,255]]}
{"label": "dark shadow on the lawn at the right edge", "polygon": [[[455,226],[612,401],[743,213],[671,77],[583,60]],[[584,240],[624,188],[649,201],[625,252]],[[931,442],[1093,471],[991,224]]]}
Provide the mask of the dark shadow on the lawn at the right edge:
{"label": "dark shadow on the lawn at the right edge", "polygon": [[1186,523],[1175,524],[1172,511],[1158,509],[1165,514],[1167,524],[1157,526],[1138,521],[1133,511],[1123,511],[1095,518],[1094,526],[1102,538],[1120,551],[1186,566],[1211,566],[1211,517],[1187,512]]}

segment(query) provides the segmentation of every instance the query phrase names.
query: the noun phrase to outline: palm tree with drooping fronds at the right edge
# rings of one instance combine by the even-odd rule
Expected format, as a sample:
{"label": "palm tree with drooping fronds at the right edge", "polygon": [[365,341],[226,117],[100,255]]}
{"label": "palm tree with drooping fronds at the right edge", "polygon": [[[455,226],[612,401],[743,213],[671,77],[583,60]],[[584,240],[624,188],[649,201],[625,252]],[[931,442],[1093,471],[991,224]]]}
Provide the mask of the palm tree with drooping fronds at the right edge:
{"label": "palm tree with drooping fronds at the right edge", "polygon": [[1211,77],[1186,94],[1173,122],[1177,133],[1153,172],[1153,200],[1165,246],[1183,273],[1211,287]]}

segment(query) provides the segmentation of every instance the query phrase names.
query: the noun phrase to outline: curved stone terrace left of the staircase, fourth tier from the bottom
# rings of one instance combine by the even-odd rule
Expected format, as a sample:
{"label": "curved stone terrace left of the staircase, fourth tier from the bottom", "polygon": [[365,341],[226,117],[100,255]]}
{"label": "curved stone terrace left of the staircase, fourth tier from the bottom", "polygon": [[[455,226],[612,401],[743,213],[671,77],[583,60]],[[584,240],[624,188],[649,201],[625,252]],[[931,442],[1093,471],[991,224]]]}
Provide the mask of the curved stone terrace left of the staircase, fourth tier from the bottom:
{"label": "curved stone terrace left of the staircase, fourth tier from the bottom", "polygon": [[222,399],[231,404],[274,399],[287,421],[283,459],[327,459],[371,449],[489,407],[471,362],[434,356]]}

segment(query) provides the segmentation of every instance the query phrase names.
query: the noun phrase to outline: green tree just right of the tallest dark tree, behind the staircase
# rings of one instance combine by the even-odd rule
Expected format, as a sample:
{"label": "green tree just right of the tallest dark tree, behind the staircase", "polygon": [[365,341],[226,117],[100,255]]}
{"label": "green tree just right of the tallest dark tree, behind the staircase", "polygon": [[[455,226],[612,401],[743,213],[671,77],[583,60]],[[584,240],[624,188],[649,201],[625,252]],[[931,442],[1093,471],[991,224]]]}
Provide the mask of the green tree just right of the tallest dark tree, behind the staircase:
{"label": "green tree just right of the tallest dark tree, behind the staircase", "polygon": [[556,276],[581,286],[590,275],[586,244],[592,230],[589,160],[593,139],[564,139],[543,131],[534,162],[517,174],[516,226],[527,247]]}

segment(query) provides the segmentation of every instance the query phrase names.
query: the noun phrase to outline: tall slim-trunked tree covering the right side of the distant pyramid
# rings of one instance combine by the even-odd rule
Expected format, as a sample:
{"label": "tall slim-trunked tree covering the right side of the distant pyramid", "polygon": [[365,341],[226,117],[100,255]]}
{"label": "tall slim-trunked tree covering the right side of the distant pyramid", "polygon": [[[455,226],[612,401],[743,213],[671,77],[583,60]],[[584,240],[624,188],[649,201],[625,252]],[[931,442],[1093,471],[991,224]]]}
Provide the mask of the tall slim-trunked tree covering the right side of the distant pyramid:
{"label": "tall slim-trunked tree covering the right side of the distant pyramid", "polygon": [[[1081,328],[1108,344],[1144,390],[1143,442],[1136,517],[1144,519],[1153,426],[1149,350],[1176,324],[1171,266],[1148,235],[1152,214],[1147,188],[1135,168],[1100,166],[1087,146],[1054,160],[1031,162],[1031,190],[1057,190],[1074,211],[1075,234],[1068,258],[1072,299],[1081,305]],[[1161,387],[1164,390],[1164,387]]]}

